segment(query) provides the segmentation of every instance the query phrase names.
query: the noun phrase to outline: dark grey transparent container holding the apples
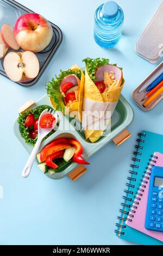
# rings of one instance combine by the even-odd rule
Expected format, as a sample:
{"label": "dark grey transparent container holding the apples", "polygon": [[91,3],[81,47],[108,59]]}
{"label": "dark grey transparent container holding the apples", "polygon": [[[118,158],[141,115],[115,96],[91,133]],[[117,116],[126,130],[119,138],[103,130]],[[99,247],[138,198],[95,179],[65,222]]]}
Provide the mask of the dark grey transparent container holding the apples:
{"label": "dark grey transparent container holding the apples", "polygon": [[[1,8],[1,21],[0,26],[2,26],[4,23],[10,24],[12,27],[14,27],[15,21],[20,17],[21,15],[25,13],[34,13],[34,11],[24,7],[22,4],[17,3],[14,0],[0,0],[0,8]],[[34,80],[29,82],[18,82],[21,86],[29,87],[34,86],[34,84],[39,81],[39,78],[47,68],[47,65],[51,61],[53,55],[55,52],[57,52],[58,47],[61,44],[62,41],[62,32],[60,28],[56,25],[54,25],[52,22],[51,26],[53,29],[53,38],[51,43],[41,52],[35,53],[37,58],[39,59],[40,63],[40,71],[39,74],[34,78]],[[8,50],[8,52],[14,51],[14,50]],[[16,52],[20,52],[23,50],[20,48]],[[0,74],[2,74],[5,77],[8,77],[5,74],[4,68],[3,68],[3,58],[0,61]]]}

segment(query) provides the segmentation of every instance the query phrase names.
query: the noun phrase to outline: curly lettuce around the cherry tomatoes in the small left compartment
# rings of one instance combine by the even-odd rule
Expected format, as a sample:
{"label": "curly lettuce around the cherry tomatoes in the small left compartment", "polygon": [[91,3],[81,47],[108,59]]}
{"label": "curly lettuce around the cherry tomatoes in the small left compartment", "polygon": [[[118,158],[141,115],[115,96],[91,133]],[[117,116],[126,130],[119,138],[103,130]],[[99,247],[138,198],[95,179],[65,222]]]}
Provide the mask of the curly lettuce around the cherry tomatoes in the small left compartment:
{"label": "curly lettuce around the cherry tomatoes in the small left compartment", "polygon": [[[33,129],[33,126],[32,127],[24,126],[24,122],[25,122],[27,116],[30,113],[32,113],[32,114],[34,114],[35,119],[37,119],[40,117],[40,114],[45,109],[52,109],[52,108],[47,105],[42,105],[42,106],[38,106],[35,108],[28,108],[25,112],[19,114],[17,123],[19,124],[19,130],[20,130],[21,136],[25,139],[27,144],[31,144],[34,146],[37,141],[37,137],[35,139],[32,139],[29,137],[29,132],[30,132],[30,130]],[[54,133],[54,130],[51,131],[45,138],[43,138],[43,141],[45,141],[45,139],[48,138],[49,136],[51,136],[53,133]]]}

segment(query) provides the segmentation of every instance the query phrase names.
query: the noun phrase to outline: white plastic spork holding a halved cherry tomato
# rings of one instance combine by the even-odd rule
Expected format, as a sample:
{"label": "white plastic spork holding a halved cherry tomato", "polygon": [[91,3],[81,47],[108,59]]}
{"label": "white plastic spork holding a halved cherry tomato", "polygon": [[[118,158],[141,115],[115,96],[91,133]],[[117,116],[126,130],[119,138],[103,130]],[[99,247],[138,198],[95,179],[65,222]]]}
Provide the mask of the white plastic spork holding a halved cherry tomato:
{"label": "white plastic spork holding a halved cherry tomato", "polygon": [[[48,128],[48,129],[43,129],[43,128],[40,127],[40,119],[45,114],[52,114],[55,117],[55,121],[54,121],[53,127]],[[42,139],[45,138],[45,136],[47,136],[48,133],[51,132],[54,129],[54,127],[57,124],[57,122],[58,122],[58,114],[57,113],[54,114],[54,111],[52,111],[52,113],[51,113],[51,109],[49,111],[48,111],[48,109],[45,109],[40,114],[39,121],[38,121],[38,138],[37,138],[37,142],[35,144],[35,147],[32,150],[32,153],[29,156],[29,159],[28,159],[28,161],[26,163],[26,166],[23,169],[23,172],[22,172],[22,177],[23,178],[27,178],[28,175],[30,174],[30,170],[32,169],[32,166],[33,166],[33,163],[35,161],[35,157],[36,157],[37,151],[40,148],[40,144],[41,144]]]}

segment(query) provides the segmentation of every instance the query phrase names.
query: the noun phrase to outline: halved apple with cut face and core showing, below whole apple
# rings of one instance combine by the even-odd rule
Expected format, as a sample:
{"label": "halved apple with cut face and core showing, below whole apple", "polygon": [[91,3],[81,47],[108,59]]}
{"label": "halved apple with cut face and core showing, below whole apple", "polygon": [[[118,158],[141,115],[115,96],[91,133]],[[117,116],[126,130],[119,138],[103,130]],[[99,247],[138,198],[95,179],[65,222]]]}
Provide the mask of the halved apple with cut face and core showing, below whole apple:
{"label": "halved apple with cut face and core showing, below whole apple", "polygon": [[4,70],[10,80],[14,82],[27,82],[33,80],[40,69],[39,60],[35,53],[9,52],[4,57]]}

